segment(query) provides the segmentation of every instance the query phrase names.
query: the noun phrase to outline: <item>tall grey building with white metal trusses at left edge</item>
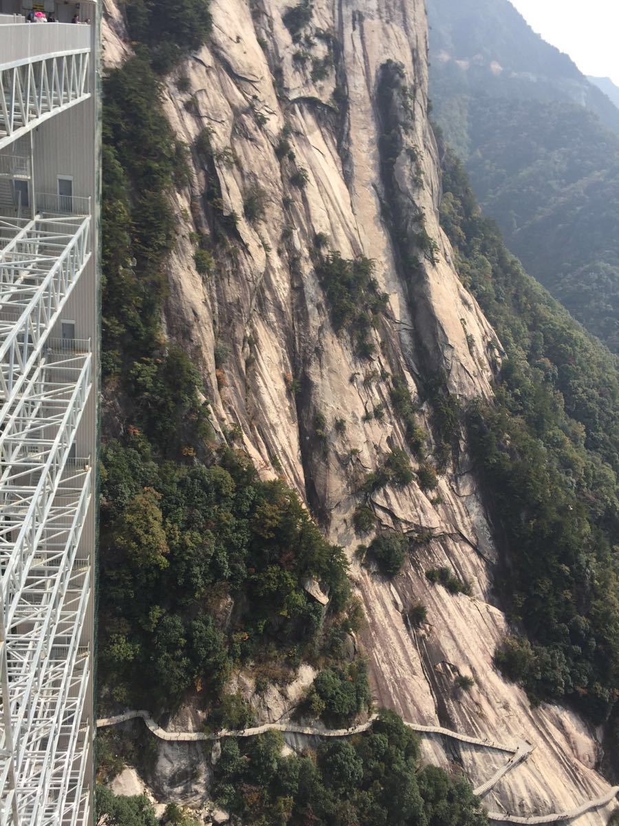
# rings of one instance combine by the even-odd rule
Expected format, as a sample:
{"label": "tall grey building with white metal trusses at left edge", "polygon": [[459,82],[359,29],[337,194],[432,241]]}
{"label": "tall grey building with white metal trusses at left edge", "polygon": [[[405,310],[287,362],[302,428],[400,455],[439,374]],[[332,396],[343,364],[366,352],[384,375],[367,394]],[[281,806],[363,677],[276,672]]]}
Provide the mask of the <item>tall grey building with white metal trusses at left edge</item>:
{"label": "tall grey building with white metal trusses at left edge", "polygon": [[0,826],[93,816],[97,17],[0,0]]}

